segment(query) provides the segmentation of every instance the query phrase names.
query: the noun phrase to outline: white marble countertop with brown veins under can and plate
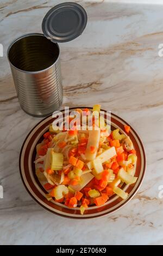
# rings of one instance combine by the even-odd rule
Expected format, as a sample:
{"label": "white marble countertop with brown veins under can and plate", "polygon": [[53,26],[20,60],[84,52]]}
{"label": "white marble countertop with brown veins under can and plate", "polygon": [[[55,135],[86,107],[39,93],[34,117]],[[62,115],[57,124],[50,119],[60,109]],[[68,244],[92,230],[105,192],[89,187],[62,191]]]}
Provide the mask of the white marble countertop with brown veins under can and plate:
{"label": "white marble countertop with brown veins under can and plate", "polygon": [[159,186],[163,185],[163,57],[158,55],[158,46],[163,43],[163,5],[159,4],[163,1],[134,4],[136,1],[79,0],[88,15],[86,29],[79,38],[60,44],[63,106],[101,103],[134,127],[146,150],[147,169],[139,192],[124,208],[93,220],[71,220],[41,208],[27,193],[18,170],[24,138],[40,119],[20,108],[7,47],[21,34],[41,32],[43,16],[64,1],[2,2],[1,245],[163,244],[163,198],[159,198]]}

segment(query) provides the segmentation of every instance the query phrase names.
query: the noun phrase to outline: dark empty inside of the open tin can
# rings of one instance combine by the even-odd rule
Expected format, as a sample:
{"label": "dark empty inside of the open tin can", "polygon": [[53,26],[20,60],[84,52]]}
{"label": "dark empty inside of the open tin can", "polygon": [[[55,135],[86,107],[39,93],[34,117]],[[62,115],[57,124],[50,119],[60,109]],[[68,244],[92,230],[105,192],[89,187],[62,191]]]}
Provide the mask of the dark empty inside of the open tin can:
{"label": "dark empty inside of the open tin can", "polygon": [[17,69],[41,71],[53,65],[59,56],[59,47],[43,35],[28,35],[11,45],[9,60]]}

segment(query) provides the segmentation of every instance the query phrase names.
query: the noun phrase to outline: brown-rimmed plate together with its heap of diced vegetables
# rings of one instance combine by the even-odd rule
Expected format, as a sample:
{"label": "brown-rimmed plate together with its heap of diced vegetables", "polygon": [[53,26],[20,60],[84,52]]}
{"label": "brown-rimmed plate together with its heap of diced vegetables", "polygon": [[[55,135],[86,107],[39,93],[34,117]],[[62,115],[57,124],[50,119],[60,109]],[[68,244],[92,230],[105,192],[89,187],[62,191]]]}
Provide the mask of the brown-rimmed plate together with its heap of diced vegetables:
{"label": "brown-rimmed plate together with its heap of diced vegetables", "polygon": [[[110,214],[129,202],[142,183],[143,144],[117,115],[111,113],[110,125],[106,124],[108,115],[100,105],[70,111],[78,113],[76,121],[62,110],[61,125],[54,125],[57,117],[51,115],[29,132],[20,153],[23,184],[37,203],[54,214],[70,218]],[[79,129],[79,119],[88,120],[90,114],[91,129],[87,123]],[[65,122],[73,123],[71,129]]]}

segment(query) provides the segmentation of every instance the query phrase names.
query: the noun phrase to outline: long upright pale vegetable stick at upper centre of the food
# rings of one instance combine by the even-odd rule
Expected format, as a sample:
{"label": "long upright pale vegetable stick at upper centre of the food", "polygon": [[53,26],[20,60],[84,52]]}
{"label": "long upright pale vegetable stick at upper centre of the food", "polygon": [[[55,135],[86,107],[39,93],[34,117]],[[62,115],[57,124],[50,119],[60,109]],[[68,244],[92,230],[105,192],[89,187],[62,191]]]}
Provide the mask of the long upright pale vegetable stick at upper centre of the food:
{"label": "long upright pale vegetable stick at upper centre of the food", "polygon": [[[89,139],[86,146],[85,157],[87,161],[91,161],[96,158],[97,150],[99,147],[100,130],[89,131]],[[95,152],[91,153],[91,147],[95,147]]]}

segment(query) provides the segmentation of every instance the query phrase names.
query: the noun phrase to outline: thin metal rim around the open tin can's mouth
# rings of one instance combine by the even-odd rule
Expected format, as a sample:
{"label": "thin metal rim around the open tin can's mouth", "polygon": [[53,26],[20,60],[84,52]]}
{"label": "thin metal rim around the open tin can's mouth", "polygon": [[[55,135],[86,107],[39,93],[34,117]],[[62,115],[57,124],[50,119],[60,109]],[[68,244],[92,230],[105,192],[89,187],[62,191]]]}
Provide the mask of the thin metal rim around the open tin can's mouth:
{"label": "thin metal rim around the open tin can's mouth", "polygon": [[[26,71],[26,70],[18,69],[18,68],[16,68],[16,66],[14,66],[14,65],[10,62],[10,59],[9,59],[10,48],[11,48],[12,45],[15,44],[16,41],[18,41],[18,40],[20,40],[20,39],[22,39],[22,38],[25,38],[26,36],[30,36],[30,35],[41,35],[41,36],[43,36],[44,38],[46,38],[46,36],[45,36],[44,34],[42,34],[42,33],[27,33],[27,34],[23,34],[23,35],[21,35],[21,36],[18,36],[18,38],[14,39],[14,40],[10,43],[10,45],[8,46],[7,58],[8,58],[8,62],[10,63],[10,65],[11,65],[13,68],[17,69],[18,71],[21,71],[21,72],[26,73],[26,74],[39,74],[39,73],[45,72],[45,71],[47,71],[48,69],[52,68],[52,67],[58,62],[58,59],[60,58],[60,48],[59,48],[59,45],[57,44],[57,42],[53,42],[53,44],[57,45],[58,50],[59,50],[59,54],[58,54],[58,57],[57,57],[57,59],[55,60],[55,62],[54,62],[51,66],[48,66],[48,68],[42,69],[42,70],[39,70],[39,71]],[[46,38],[46,39],[47,39],[47,38]],[[48,40],[48,39],[47,39],[47,40]]]}

